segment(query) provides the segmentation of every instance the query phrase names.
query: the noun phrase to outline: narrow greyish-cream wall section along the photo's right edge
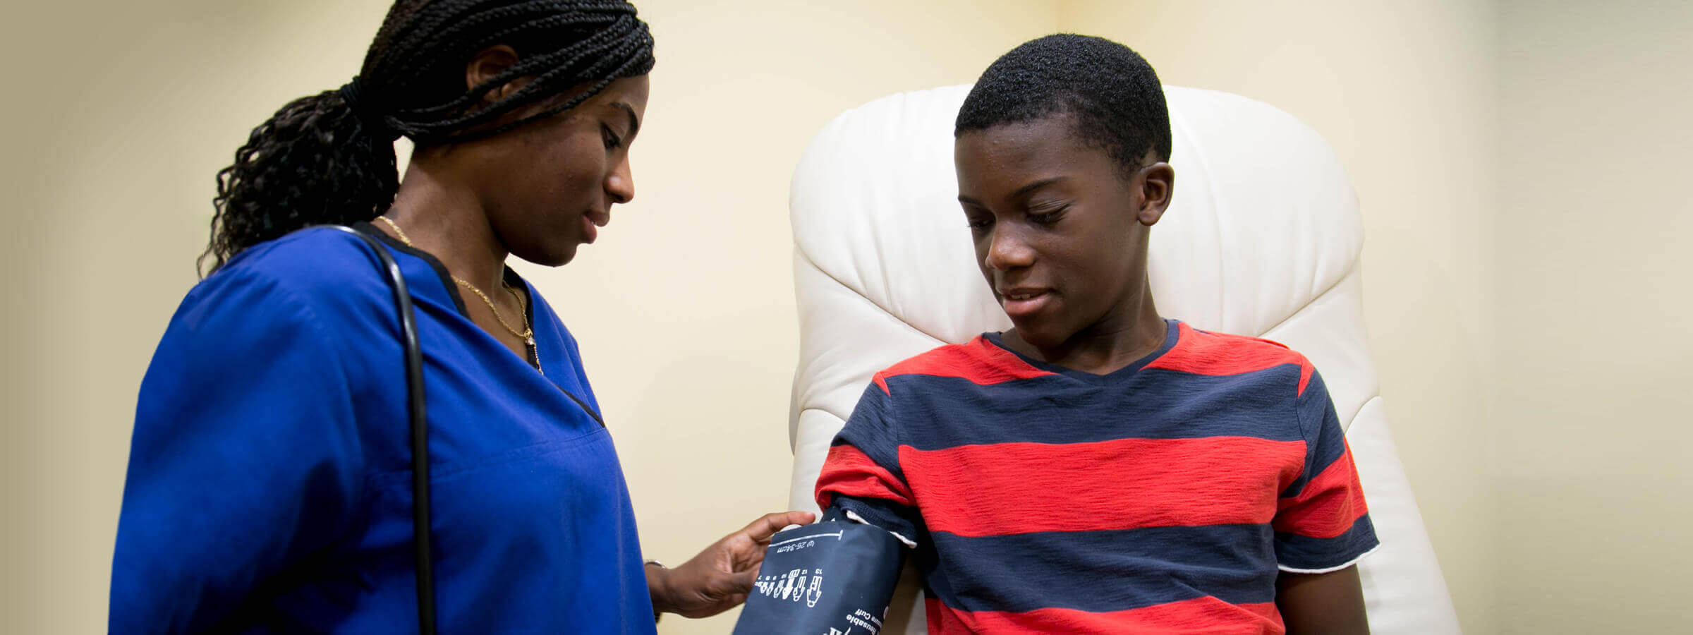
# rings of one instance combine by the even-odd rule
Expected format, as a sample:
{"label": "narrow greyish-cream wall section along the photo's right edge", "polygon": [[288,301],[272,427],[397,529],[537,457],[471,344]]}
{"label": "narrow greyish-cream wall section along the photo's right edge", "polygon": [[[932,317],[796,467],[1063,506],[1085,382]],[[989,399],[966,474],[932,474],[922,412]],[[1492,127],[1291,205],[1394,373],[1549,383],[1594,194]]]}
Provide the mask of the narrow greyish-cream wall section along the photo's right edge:
{"label": "narrow greyish-cream wall section along the photo's right edge", "polygon": [[1693,5],[1500,17],[1500,632],[1686,632]]}

